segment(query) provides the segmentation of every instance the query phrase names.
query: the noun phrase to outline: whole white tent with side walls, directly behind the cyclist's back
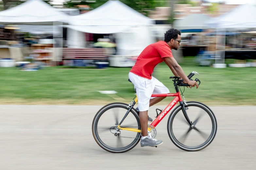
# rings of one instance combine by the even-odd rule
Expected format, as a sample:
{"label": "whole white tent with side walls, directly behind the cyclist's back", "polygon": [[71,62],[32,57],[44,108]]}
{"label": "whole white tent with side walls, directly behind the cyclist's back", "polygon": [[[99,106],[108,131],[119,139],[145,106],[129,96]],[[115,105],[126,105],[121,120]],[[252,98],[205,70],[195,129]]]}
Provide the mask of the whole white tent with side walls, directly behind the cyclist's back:
{"label": "whole white tent with side walls, directly behind the cyclist's back", "polygon": [[[120,1],[108,1],[102,6],[69,18],[68,46],[80,48],[77,42],[81,32],[94,34],[114,34],[119,55],[139,55],[154,42],[149,26],[154,21],[128,7]],[[72,29],[72,31],[70,30]],[[74,30],[80,33],[75,33]]]}

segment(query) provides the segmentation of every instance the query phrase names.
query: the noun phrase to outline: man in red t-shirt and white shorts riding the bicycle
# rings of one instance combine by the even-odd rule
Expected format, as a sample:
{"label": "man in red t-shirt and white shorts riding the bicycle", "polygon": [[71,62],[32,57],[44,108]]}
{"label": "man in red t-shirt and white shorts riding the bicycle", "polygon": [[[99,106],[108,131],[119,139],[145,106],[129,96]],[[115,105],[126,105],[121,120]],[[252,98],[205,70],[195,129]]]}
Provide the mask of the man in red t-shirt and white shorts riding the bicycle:
{"label": "man in red t-shirt and white shorts riding the bicycle", "polygon": [[173,58],[172,49],[178,50],[181,42],[180,31],[170,29],[164,34],[164,41],[159,41],[147,46],[137,58],[135,65],[129,72],[129,79],[134,84],[138,97],[138,107],[136,110],[139,113],[141,123],[141,146],[158,146],[162,140],[153,139],[147,133],[147,122],[152,122],[148,117],[147,111],[150,106],[162,101],[165,97],[151,97],[152,94],[170,93],[158,79],[152,76],[154,67],[163,61],[170,67],[174,76],[181,77],[184,82],[190,86],[198,88],[196,81],[191,81],[185,75],[184,71]]}

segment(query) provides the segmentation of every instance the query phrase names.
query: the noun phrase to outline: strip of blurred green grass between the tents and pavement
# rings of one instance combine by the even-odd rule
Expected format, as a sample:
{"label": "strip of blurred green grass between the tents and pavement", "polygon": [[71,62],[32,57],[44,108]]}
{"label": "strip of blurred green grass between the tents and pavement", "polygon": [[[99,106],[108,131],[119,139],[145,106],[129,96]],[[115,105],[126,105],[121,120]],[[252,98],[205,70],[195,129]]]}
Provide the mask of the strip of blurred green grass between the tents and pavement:
{"label": "strip of blurred green grass between the tents and pavement", "polygon": [[[199,67],[191,57],[186,57],[180,65],[186,75],[192,71],[198,72],[196,78],[201,80],[198,89],[185,88],[187,101],[210,105],[255,105],[256,68]],[[129,70],[46,67],[30,72],[0,67],[0,103],[103,105],[116,101],[130,102],[135,92],[132,83],[127,81]],[[173,82],[169,79],[172,75],[168,66],[161,63],[155,68],[153,76],[168,87],[171,93],[175,93]],[[118,93],[110,96],[97,92],[105,90]],[[173,99],[167,98],[162,104]]]}

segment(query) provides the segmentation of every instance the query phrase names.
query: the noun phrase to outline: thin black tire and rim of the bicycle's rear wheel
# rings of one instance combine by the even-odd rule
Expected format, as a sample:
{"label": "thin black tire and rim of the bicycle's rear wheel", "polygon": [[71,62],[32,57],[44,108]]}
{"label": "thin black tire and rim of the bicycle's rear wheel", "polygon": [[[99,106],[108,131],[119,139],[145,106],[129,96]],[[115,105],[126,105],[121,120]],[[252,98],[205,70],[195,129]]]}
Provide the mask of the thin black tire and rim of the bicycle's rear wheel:
{"label": "thin black tire and rim of the bicycle's rear wheel", "polygon": [[[106,109],[106,108],[108,108],[108,107],[110,107],[110,106],[114,106],[114,105],[120,105],[120,106],[122,106],[122,108],[125,108],[125,109],[127,109],[128,110],[128,108],[127,108],[127,104],[125,104],[125,103],[110,103],[110,104],[108,104],[108,105],[106,105],[106,106],[103,106],[97,113],[96,113],[96,115],[95,115],[95,117],[94,117],[94,120],[93,120],[93,124],[92,124],[92,132],[93,132],[93,136],[94,136],[94,139],[95,139],[95,141],[96,141],[96,143],[102,148],[102,149],[104,149],[104,150],[106,150],[106,151],[109,151],[109,152],[112,152],[112,153],[123,153],[123,152],[127,152],[127,151],[129,151],[129,150],[131,150],[132,148],[134,148],[138,143],[139,143],[139,141],[140,141],[140,138],[139,139],[134,139],[134,141],[131,143],[131,144],[129,144],[129,145],[131,145],[130,147],[128,147],[127,149],[124,149],[124,150],[114,150],[114,149],[110,149],[110,148],[112,148],[112,147],[106,147],[106,144],[104,144],[104,142],[102,142],[100,139],[98,139],[97,137],[98,137],[98,134],[97,134],[97,131],[95,131],[95,123],[96,123],[96,120],[98,121],[98,119],[100,118],[100,116],[105,112],[105,111],[107,111],[107,110],[104,110],[104,109]],[[109,108],[110,109],[110,108]],[[103,111],[103,112],[102,112]],[[133,114],[134,116],[135,116],[135,118],[136,118],[136,120],[137,120],[137,123],[138,123],[138,126],[140,127],[140,120],[139,120],[139,115],[138,115],[138,112],[134,109],[134,108],[132,108],[131,109],[131,111],[130,111],[130,113],[129,114]],[[99,114],[101,114],[100,116],[99,116]],[[99,116],[99,117],[98,117]],[[98,118],[98,119],[97,119]],[[138,128],[138,129],[140,129],[140,128]],[[140,133],[138,133],[137,135],[136,135],[136,137],[140,137]],[[103,144],[102,144],[102,143]],[[128,146],[129,146],[128,145]]]}

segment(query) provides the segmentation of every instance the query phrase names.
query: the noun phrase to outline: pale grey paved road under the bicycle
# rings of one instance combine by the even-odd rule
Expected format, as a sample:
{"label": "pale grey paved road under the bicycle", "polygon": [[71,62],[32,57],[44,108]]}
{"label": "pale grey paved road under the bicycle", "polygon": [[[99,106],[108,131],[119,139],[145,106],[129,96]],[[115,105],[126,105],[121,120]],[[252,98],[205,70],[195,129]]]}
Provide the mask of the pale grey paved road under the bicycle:
{"label": "pale grey paved road under the bicycle", "polygon": [[[94,141],[91,125],[101,106],[0,106],[1,170],[256,169],[255,106],[211,107],[218,121],[211,145],[197,152],[177,148],[157,126],[158,148],[114,154]],[[149,115],[155,115],[155,108]]]}

